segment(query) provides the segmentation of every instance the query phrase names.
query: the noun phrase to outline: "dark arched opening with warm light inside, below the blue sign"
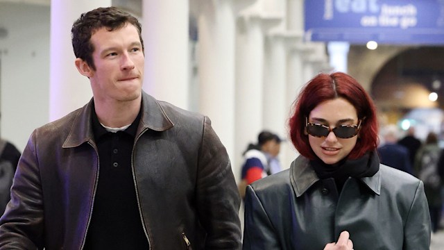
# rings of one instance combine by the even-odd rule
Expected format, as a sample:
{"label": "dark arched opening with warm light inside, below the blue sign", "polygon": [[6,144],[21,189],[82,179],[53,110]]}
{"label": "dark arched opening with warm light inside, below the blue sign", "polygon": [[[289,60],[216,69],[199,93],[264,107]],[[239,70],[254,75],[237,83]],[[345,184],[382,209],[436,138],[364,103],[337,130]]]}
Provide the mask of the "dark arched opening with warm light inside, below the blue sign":
{"label": "dark arched opening with warm light inside, below the blue sign", "polygon": [[[375,74],[371,94],[382,110],[444,108],[444,47],[412,47]],[[438,100],[429,101],[436,92]]]}

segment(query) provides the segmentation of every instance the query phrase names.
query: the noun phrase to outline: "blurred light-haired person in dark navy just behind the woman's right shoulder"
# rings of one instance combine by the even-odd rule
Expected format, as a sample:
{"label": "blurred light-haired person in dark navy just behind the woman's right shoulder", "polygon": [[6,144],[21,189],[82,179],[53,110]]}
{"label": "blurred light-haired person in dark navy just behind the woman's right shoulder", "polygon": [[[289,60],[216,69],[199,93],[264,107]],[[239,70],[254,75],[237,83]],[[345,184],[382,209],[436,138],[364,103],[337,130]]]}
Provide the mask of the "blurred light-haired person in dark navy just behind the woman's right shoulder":
{"label": "blurred light-haired person in dark navy just behind the woman's right shoulder", "polygon": [[381,131],[383,142],[377,147],[379,160],[382,164],[413,174],[410,164],[409,150],[398,144],[398,126],[388,124]]}

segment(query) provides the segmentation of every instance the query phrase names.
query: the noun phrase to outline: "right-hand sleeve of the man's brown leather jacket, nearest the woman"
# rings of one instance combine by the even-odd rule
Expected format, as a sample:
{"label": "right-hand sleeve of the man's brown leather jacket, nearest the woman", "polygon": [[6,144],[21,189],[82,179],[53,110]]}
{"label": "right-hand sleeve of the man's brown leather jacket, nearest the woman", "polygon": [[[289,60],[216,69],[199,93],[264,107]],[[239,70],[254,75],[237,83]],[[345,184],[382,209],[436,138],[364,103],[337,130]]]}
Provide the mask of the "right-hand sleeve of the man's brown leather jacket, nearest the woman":
{"label": "right-hand sleeve of the man's brown leather jacket, nearest the woman", "polygon": [[203,122],[198,158],[197,208],[199,220],[207,231],[205,249],[241,249],[241,197],[228,153],[208,117]]}

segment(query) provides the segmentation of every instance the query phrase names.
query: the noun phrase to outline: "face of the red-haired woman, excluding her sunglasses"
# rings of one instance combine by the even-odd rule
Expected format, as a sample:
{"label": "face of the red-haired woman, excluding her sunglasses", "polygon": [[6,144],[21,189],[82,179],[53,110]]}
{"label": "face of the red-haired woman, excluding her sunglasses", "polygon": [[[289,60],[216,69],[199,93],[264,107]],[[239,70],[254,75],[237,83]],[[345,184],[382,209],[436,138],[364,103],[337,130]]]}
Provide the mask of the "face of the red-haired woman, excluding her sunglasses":
{"label": "face of the red-haired woman, excluding her sunglasses", "polygon": [[[346,99],[337,98],[323,101],[311,110],[308,122],[335,128],[341,125],[357,125],[359,121],[355,107]],[[355,147],[357,138],[337,138],[333,131],[321,138],[308,135],[311,149],[326,164],[338,163],[348,156]]]}

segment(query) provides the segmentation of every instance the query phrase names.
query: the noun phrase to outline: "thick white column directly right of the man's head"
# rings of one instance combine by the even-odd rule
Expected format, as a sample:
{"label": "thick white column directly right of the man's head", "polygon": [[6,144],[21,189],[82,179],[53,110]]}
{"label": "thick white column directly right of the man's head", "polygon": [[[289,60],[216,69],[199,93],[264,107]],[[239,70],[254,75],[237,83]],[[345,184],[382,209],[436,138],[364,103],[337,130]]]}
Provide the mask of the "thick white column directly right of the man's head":
{"label": "thick white column directly right of the man's head", "polygon": [[185,109],[189,108],[188,15],[188,1],[142,1],[144,90]]}

